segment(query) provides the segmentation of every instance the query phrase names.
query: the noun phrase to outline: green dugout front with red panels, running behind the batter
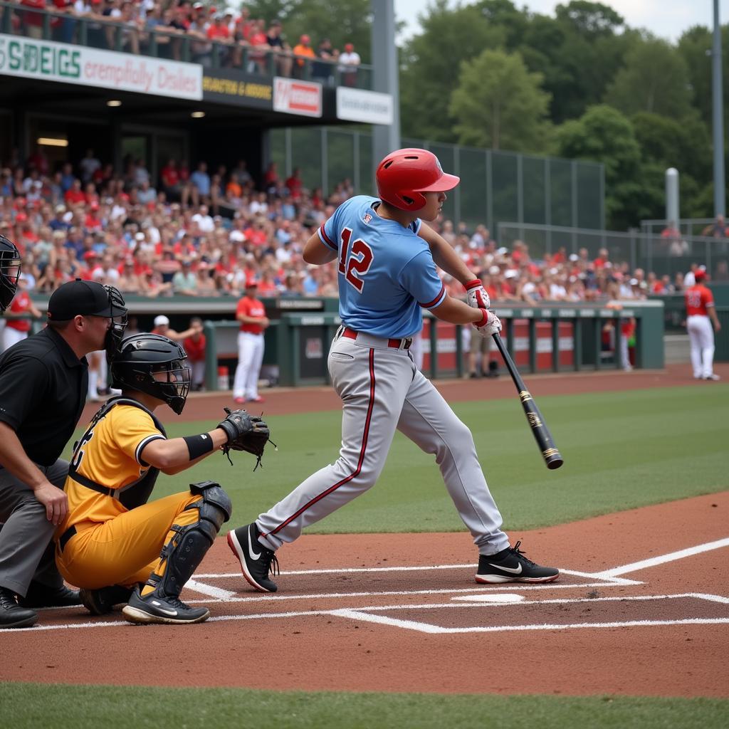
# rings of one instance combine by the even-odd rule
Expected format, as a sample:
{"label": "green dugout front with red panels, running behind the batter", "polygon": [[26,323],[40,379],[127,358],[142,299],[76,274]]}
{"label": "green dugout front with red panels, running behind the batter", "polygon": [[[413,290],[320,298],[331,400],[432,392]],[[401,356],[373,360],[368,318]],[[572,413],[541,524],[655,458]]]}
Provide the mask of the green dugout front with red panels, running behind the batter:
{"label": "green dugout front with red panels, running behind the batter", "polygon": [[[230,386],[238,359],[240,329],[235,321],[235,299],[126,298],[135,330],[149,331],[159,313],[165,313],[177,331],[186,329],[192,316],[203,318],[206,389],[227,389],[224,382]],[[47,297],[34,297],[34,303],[44,311]],[[340,325],[337,300],[280,298],[264,299],[263,303],[271,321],[265,331],[263,365],[268,371],[275,370],[273,381],[291,387],[327,383],[327,353]],[[628,350],[631,365],[642,369],[664,366],[665,317],[661,300],[574,305],[563,302],[532,307],[494,302],[493,308],[504,322],[502,338],[522,373],[619,370],[623,366],[621,340],[628,324],[634,329]],[[724,321],[729,319],[729,307],[717,305],[717,312],[729,335],[729,321]],[[42,322],[36,321],[34,330],[40,327]],[[423,335],[416,343],[422,348],[423,372],[431,379],[467,375],[470,334],[470,327],[448,324],[426,312]],[[717,338],[717,360],[723,352],[720,340],[723,338]],[[504,371],[494,345],[489,357]]]}

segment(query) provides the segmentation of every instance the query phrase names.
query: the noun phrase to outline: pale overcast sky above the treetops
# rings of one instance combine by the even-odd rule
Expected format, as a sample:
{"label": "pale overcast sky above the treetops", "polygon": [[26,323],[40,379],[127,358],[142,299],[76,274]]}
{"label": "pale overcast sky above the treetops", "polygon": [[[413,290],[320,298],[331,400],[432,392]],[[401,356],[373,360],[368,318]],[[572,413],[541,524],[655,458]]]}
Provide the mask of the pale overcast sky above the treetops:
{"label": "pale overcast sky above the treetops", "polygon": [[[518,8],[526,7],[531,12],[554,17],[554,9],[558,4],[567,4],[569,0],[514,0]],[[408,23],[403,37],[412,35],[418,29],[417,16],[429,0],[394,0],[397,20]],[[683,31],[691,26],[707,26],[714,24],[713,0],[601,0],[605,5],[614,8],[625,18],[631,28],[648,28],[653,34],[676,42]],[[456,3],[451,0],[451,7]],[[470,4],[467,1],[462,4]],[[729,0],[720,1],[720,21],[729,23]]]}

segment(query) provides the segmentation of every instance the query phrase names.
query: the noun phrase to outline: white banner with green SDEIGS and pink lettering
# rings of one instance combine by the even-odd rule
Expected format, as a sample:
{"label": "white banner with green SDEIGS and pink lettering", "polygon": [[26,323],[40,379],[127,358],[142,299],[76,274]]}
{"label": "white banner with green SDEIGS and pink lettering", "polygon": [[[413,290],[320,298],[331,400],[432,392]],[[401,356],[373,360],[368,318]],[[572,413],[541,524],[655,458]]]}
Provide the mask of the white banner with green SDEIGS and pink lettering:
{"label": "white banner with green SDEIGS and pink lettering", "polygon": [[0,34],[0,74],[118,91],[203,98],[195,63]]}

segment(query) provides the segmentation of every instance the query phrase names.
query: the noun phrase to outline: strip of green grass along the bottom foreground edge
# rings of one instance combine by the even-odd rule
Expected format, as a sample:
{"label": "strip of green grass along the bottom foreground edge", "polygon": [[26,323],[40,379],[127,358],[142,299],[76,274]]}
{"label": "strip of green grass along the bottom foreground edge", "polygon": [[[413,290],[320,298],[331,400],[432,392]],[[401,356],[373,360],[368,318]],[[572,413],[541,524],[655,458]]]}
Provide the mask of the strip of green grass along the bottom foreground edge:
{"label": "strip of green grass along the bottom foreground edge", "polygon": [[[723,729],[729,701],[708,698],[304,693],[0,684],[12,729]],[[52,718],[50,718],[52,717]]]}

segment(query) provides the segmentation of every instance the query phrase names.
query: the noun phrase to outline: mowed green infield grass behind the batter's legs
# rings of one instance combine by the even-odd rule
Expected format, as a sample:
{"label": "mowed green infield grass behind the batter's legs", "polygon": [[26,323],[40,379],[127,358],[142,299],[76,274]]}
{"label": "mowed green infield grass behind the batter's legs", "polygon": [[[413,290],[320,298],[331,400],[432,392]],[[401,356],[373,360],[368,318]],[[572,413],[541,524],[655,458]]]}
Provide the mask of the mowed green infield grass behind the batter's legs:
{"label": "mowed green infield grass behind the batter's legs", "polygon": [[[729,488],[729,385],[539,397],[562,455],[545,467],[518,399],[456,403],[471,428],[486,479],[510,531],[575,521]],[[174,423],[172,436],[214,421]],[[155,496],[213,479],[233,499],[233,523],[251,521],[301,480],[334,461],[339,411],[267,418],[279,450],[268,448],[252,472],[248,453],[230,467],[214,454],[174,477],[161,475]],[[464,529],[432,456],[397,434],[380,480],[313,533],[457,531]]]}

